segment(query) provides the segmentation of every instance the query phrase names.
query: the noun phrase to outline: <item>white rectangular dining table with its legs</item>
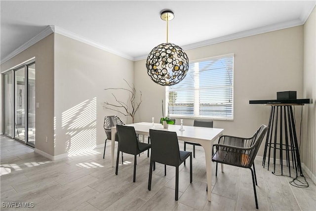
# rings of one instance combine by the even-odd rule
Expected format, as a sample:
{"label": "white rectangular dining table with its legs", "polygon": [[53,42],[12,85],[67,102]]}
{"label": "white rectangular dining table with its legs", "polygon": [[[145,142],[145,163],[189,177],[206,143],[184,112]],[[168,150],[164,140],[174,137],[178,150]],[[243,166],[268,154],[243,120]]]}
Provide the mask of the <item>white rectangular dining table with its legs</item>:
{"label": "white rectangular dining table with its legs", "polygon": [[[168,125],[168,128],[163,128],[161,124],[157,123],[134,123],[126,126],[134,127],[137,134],[144,136],[149,136],[150,129],[164,130],[176,132],[178,140],[181,141],[190,141],[200,144],[205,152],[205,166],[206,166],[206,179],[207,179],[207,188],[211,188],[211,176],[212,176],[212,146],[213,142],[219,138],[224,129],[222,128],[211,128],[211,127],[194,127],[194,126],[183,126],[183,130],[180,130],[180,125]],[[111,150],[112,150],[112,167],[114,167],[114,151],[115,151],[115,134],[117,132],[116,127],[111,127]],[[223,166],[222,166],[223,168]],[[208,201],[211,201],[211,191],[207,192]]]}

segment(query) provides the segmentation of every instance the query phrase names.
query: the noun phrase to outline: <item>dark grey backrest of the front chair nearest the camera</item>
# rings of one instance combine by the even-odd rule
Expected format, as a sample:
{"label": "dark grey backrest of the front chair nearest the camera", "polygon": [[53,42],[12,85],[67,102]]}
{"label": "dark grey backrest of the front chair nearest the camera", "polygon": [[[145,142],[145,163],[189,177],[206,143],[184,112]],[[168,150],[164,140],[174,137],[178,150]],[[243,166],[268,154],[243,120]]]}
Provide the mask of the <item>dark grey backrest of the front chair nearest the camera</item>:
{"label": "dark grey backrest of the front chair nearest the camera", "polygon": [[169,166],[178,166],[180,150],[176,132],[150,129],[151,159]]}

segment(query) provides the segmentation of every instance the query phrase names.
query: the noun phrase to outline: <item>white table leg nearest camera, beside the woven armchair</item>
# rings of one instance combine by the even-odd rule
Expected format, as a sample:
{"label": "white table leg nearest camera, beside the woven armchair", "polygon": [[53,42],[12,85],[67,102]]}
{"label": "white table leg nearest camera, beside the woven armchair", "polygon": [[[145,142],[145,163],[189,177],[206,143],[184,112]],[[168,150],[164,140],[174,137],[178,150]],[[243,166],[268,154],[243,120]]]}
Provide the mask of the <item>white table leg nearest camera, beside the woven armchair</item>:
{"label": "white table leg nearest camera, beside the woven armchair", "polygon": [[206,179],[207,179],[207,198],[211,201],[212,195],[212,143],[210,141],[201,144],[205,151]]}

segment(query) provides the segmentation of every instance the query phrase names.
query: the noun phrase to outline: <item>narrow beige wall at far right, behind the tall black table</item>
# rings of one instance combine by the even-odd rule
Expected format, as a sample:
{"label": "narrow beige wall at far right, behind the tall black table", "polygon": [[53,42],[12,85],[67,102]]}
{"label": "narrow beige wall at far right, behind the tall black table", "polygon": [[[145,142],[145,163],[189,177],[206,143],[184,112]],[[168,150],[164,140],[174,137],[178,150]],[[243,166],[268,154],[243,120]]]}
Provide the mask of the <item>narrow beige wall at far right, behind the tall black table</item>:
{"label": "narrow beige wall at far right, behind the tall black table", "polygon": [[303,162],[314,174],[316,182],[316,11],[304,24],[304,98],[313,99],[303,109]]}

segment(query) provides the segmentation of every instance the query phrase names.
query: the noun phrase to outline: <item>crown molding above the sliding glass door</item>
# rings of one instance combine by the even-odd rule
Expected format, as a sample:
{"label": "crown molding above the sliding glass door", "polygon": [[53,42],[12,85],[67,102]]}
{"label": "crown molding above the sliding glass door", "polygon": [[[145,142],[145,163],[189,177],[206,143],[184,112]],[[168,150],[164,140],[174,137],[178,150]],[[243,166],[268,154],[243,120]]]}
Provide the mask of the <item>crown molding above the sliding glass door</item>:
{"label": "crown molding above the sliding glass door", "polygon": [[29,40],[28,42],[25,42],[20,47],[16,48],[14,51],[12,51],[9,55],[4,57],[0,63],[2,64],[4,62],[6,62],[7,60],[13,58],[17,54],[21,53],[23,50],[25,50],[25,49],[31,47],[32,45],[34,45],[35,43],[41,41],[42,39],[44,39],[45,37],[47,37],[48,35],[50,35],[53,32],[54,32],[54,27],[47,26],[43,31],[41,31],[39,34],[34,36],[31,40]]}

